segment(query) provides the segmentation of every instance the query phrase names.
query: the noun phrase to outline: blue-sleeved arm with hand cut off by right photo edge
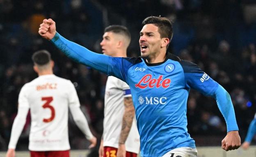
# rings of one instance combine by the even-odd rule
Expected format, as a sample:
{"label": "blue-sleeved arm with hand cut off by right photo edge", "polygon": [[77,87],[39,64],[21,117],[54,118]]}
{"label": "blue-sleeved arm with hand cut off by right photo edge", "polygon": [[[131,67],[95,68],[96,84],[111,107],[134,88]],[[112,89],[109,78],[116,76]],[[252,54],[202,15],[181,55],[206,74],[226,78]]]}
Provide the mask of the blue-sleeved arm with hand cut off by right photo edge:
{"label": "blue-sleeved arm with hand cut off by right photo edge", "polygon": [[251,140],[253,139],[255,133],[256,133],[256,115],[254,116],[254,119],[251,121],[249,129],[247,131],[247,135],[245,137],[245,142],[242,144],[242,148],[244,150],[247,150],[249,148],[251,144]]}

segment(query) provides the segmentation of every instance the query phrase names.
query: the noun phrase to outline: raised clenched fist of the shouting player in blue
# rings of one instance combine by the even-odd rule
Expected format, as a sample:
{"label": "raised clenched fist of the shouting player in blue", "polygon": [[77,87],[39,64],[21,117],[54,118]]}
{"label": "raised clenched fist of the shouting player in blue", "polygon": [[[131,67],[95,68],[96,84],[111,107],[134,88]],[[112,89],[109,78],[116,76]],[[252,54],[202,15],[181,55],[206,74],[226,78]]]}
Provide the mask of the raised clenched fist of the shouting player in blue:
{"label": "raised clenched fist of the shouting player in blue", "polygon": [[51,40],[56,34],[56,25],[52,19],[44,19],[40,24],[38,33],[45,39]]}

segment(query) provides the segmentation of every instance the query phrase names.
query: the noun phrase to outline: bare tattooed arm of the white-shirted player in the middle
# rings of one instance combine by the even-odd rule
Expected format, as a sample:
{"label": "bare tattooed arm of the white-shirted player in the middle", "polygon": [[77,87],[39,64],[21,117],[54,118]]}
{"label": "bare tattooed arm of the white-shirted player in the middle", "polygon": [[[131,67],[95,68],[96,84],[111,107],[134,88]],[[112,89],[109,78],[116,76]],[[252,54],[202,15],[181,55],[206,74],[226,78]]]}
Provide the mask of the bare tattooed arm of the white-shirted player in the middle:
{"label": "bare tattooed arm of the white-shirted player in the middle", "polygon": [[133,106],[132,97],[125,97],[122,130],[119,137],[117,157],[126,157],[125,142],[129,135],[130,128],[132,127],[132,124],[133,124],[134,114],[135,114],[135,109]]}

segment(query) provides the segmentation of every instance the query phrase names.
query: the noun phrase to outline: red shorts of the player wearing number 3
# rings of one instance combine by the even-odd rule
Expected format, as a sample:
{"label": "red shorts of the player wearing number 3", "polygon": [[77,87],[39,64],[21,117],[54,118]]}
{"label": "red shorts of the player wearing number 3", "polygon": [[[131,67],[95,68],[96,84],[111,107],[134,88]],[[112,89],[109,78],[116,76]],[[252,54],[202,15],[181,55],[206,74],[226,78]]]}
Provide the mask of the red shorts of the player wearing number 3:
{"label": "red shorts of the player wearing number 3", "polygon": [[30,157],[69,157],[69,150],[64,150],[64,151],[30,151]]}

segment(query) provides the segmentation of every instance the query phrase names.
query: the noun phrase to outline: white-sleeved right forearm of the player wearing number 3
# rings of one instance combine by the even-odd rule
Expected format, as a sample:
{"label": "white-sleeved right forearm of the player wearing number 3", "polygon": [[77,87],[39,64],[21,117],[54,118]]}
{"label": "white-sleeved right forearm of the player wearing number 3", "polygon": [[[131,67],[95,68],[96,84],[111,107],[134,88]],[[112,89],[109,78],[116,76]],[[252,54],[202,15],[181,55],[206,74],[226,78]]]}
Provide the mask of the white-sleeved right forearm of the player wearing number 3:
{"label": "white-sleeved right forearm of the player wearing number 3", "polygon": [[85,118],[85,115],[82,113],[80,108],[77,106],[72,106],[72,107],[70,107],[70,111],[71,111],[71,114],[72,114],[75,124],[82,131],[82,133],[85,134],[86,139],[88,139],[88,140],[91,139],[93,137],[93,135],[91,133],[91,130],[89,128],[89,125]]}

